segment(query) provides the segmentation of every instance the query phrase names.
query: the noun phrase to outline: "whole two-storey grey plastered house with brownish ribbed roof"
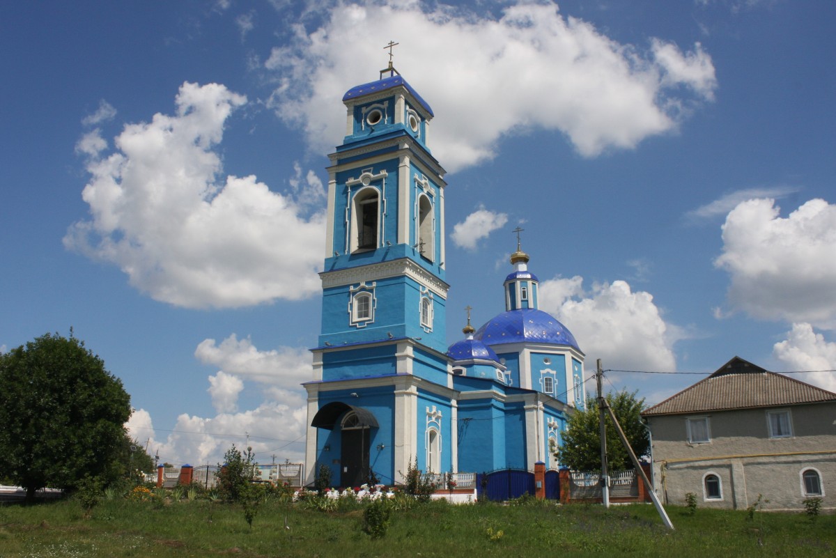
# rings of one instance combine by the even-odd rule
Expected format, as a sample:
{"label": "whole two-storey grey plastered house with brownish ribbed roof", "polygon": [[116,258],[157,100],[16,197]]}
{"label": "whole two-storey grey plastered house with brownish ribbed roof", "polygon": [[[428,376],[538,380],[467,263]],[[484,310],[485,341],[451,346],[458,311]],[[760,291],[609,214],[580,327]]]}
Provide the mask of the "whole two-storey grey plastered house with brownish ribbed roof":
{"label": "whole two-storey grey plastered house with brownish ribbed roof", "polygon": [[682,505],[803,510],[836,507],[836,393],[732,358],[645,410],[655,490]]}

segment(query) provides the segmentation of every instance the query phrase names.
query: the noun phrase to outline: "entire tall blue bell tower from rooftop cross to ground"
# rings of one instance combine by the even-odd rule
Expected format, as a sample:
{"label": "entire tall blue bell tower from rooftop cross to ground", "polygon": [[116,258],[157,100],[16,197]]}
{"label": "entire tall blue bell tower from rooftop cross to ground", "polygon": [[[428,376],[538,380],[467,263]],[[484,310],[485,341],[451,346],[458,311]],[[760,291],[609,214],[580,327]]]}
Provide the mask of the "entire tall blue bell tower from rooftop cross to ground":
{"label": "entire tall blue bell tower from rooftop cross to ground", "polygon": [[432,109],[391,54],[380,79],[343,104],[345,136],[329,155],[322,329],[304,384],[306,479],[326,467],[335,484],[390,484],[413,459],[437,472],[456,463],[445,171],[427,143]]}

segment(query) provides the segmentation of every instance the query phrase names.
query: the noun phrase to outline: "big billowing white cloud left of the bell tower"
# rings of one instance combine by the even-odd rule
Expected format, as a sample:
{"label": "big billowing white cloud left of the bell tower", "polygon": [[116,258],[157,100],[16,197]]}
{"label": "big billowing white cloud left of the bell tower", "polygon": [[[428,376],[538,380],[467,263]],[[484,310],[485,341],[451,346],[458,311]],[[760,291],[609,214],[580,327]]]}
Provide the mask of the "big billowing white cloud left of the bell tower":
{"label": "big billowing white cloud left of the bell tower", "polygon": [[110,155],[83,139],[91,178],[82,196],[91,219],[70,226],[64,246],[120,266],[131,285],[181,307],[242,307],[319,292],[324,212],[306,217],[304,204],[255,176],[218,180],[215,148],[246,101],[220,84],[186,83],[175,115],[126,125]]}

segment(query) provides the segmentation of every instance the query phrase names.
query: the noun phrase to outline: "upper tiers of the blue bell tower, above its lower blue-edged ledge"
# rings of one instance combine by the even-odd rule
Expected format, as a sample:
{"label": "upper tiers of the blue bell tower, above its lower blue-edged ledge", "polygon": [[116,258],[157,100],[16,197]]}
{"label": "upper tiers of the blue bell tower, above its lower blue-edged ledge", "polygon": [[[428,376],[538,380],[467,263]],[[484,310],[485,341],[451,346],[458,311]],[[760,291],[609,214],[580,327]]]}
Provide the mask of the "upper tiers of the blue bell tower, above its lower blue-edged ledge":
{"label": "upper tiers of the blue bell tower, above its lower blue-edged ledge", "polygon": [[[329,155],[320,346],[411,337],[446,347],[444,170],[432,109],[391,65],[349,89]],[[389,74],[389,75],[384,75]]]}

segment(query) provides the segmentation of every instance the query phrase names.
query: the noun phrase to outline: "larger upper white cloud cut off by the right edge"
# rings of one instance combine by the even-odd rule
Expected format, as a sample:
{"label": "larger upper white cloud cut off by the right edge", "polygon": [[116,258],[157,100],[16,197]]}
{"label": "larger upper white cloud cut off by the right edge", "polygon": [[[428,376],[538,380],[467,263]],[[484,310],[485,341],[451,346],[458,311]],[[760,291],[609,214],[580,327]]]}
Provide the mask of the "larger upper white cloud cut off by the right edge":
{"label": "larger upper white cloud cut off by the right edge", "polygon": [[787,217],[775,200],[744,201],[726,217],[714,265],[728,300],[752,317],[836,328],[836,205],[809,200]]}

